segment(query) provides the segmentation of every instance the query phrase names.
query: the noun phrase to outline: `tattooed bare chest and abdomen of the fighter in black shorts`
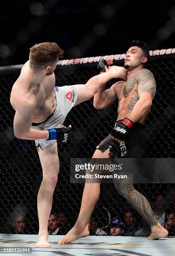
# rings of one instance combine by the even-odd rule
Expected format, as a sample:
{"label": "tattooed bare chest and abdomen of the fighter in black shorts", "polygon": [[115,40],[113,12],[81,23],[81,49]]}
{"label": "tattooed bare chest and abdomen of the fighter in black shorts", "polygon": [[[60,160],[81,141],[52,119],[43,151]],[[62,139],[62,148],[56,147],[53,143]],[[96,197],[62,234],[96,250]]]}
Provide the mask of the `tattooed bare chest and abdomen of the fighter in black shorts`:
{"label": "tattooed bare chest and abdomen of the fighter in black shorts", "polygon": [[[138,94],[138,83],[135,79],[135,76],[130,77],[127,82],[121,82],[116,85],[115,93],[119,100],[118,109],[117,109],[117,120],[122,120],[127,118],[127,116],[131,113],[134,105],[139,100]],[[138,123],[144,123],[147,114],[150,112],[150,109],[145,113],[145,115],[138,119]]]}

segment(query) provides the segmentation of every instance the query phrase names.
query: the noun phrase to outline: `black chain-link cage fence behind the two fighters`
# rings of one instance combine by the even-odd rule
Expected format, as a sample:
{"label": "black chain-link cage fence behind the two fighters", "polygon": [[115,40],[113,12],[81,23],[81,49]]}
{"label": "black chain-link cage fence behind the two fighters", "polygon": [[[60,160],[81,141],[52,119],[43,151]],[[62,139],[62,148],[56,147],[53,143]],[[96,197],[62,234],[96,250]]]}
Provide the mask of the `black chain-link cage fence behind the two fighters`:
{"label": "black chain-link cage fence behind the two fighters", "polygon": [[[150,51],[152,56],[147,69],[155,75],[157,93],[144,124],[144,144],[140,152],[144,158],[175,157],[174,50]],[[97,62],[102,57],[59,61],[55,72],[56,86],[85,84],[98,74]],[[123,54],[113,57],[114,64],[123,65]],[[21,67],[0,67],[0,233],[37,234],[37,194],[42,180],[41,164],[34,141],[15,138],[15,111],[10,105],[10,92]],[[116,79],[108,82],[107,87],[114,82]],[[65,125],[71,124],[73,133],[68,143],[58,143],[61,166],[51,211],[59,220],[58,235],[66,234],[74,226],[84,189],[84,184],[70,184],[70,158],[90,158],[96,145],[109,134],[116,119],[117,103],[110,108],[97,110],[93,107],[93,99],[77,105],[68,113]],[[175,185],[154,183],[134,184],[134,187],[147,197],[153,209],[158,209],[160,223],[163,226],[170,224],[167,216],[175,212]],[[173,216],[172,213],[169,217]],[[120,234],[147,236],[150,233],[147,223],[137,212],[133,212],[131,205],[117,193],[114,185],[101,184],[99,202],[89,224],[90,233],[110,235],[110,223],[116,219],[127,224]],[[20,225],[22,228],[19,230]],[[171,228],[171,225],[168,227]],[[173,232],[171,230],[171,234],[175,235]]]}

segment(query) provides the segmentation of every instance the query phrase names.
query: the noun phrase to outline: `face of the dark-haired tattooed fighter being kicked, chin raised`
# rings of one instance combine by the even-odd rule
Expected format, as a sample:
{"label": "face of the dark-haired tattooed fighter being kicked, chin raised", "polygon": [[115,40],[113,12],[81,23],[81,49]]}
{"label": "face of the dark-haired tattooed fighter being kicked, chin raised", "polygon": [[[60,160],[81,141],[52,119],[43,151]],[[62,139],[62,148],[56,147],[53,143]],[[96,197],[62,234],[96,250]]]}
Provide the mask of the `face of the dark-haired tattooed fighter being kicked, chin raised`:
{"label": "face of the dark-haired tattooed fighter being kicked, chin raised", "polygon": [[138,46],[132,46],[127,50],[124,60],[124,68],[128,71],[139,67],[144,59],[143,51]]}

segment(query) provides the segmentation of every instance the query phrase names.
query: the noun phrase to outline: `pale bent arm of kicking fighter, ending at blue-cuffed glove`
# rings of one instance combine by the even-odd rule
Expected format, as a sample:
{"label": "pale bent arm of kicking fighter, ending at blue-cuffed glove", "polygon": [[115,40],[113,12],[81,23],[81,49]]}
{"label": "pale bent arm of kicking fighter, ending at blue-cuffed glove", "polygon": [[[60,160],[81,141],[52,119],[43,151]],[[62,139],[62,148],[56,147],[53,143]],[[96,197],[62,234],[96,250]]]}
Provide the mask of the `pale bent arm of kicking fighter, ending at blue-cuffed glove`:
{"label": "pale bent arm of kicking fighter, ending at blue-cuffed glove", "polygon": [[35,140],[48,137],[48,131],[31,129],[32,113],[35,108],[34,100],[20,100],[16,105],[16,113],[13,121],[15,137],[26,140]]}

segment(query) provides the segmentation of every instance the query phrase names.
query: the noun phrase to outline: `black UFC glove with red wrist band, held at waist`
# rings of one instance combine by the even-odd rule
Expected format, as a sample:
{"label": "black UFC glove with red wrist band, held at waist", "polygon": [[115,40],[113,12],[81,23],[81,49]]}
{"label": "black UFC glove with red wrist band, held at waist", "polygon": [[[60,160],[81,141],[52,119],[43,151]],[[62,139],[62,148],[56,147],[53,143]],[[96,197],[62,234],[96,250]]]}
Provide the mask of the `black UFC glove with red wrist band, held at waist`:
{"label": "black UFC glove with red wrist band, held at waist", "polygon": [[129,130],[133,124],[134,123],[131,120],[124,118],[119,125],[116,125],[112,129],[111,135],[114,136],[114,138],[118,138],[119,140],[124,141],[128,136]]}

